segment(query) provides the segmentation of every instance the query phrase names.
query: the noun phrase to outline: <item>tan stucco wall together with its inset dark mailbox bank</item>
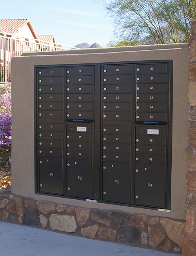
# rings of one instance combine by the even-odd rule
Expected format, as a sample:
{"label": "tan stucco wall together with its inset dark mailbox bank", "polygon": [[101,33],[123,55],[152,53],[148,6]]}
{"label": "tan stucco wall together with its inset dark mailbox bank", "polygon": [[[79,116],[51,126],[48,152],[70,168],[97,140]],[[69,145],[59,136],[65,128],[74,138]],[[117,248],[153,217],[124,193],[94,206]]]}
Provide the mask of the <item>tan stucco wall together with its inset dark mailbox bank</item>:
{"label": "tan stucco wall together with its inset dark mailbox bank", "polygon": [[12,192],[184,219],[188,58],[187,44],[13,58]]}

